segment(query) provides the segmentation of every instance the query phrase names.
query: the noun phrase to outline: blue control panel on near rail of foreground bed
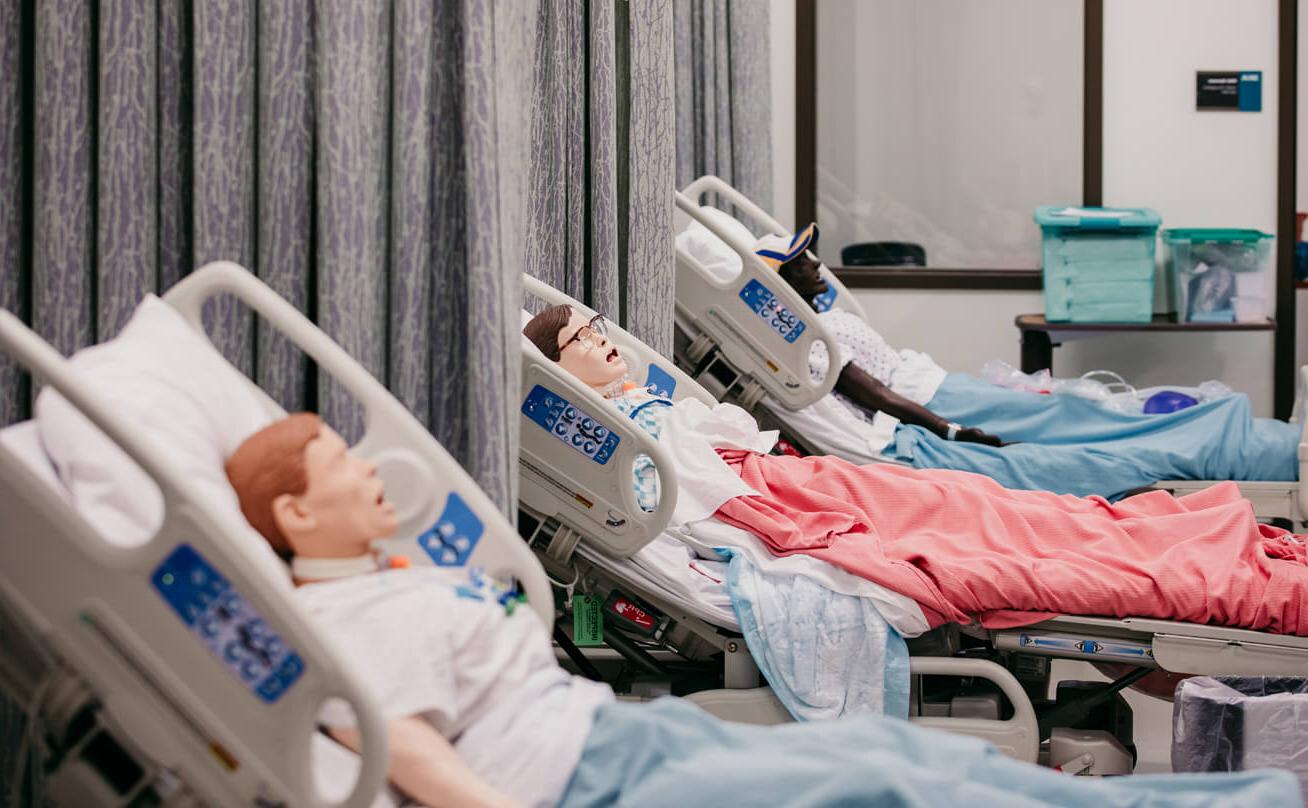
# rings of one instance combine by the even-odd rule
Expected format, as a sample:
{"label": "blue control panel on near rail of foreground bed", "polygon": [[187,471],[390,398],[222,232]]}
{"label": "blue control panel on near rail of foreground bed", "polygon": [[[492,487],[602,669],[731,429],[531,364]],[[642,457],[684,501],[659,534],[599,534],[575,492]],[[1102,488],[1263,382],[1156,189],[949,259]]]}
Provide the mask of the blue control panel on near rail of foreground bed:
{"label": "blue control panel on near rail of foreground bed", "polygon": [[272,703],[290,689],[305,662],[249,600],[188,544],[179,544],[150,583],[186,628],[255,696]]}

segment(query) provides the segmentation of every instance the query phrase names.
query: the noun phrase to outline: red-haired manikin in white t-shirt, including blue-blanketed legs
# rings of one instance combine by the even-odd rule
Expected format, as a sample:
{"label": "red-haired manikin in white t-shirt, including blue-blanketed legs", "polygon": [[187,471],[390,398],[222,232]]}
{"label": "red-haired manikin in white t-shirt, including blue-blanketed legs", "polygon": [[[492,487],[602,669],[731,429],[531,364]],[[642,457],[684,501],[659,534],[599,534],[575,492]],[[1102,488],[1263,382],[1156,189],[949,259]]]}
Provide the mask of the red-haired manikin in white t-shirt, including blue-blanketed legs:
{"label": "red-haired manikin in white t-shirt, including blue-blanketed legs", "polygon": [[[675,697],[619,703],[559,668],[532,609],[460,598],[434,567],[347,570],[395,519],[317,417],[266,428],[226,468],[279,553],[341,562],[302,569],[297,598],[378,697],[391,783],[425,805],[1299,804],[1284,771],[1087,782],[897,719],[753,727]],[[348,718],[323,723],[357,749]]]}

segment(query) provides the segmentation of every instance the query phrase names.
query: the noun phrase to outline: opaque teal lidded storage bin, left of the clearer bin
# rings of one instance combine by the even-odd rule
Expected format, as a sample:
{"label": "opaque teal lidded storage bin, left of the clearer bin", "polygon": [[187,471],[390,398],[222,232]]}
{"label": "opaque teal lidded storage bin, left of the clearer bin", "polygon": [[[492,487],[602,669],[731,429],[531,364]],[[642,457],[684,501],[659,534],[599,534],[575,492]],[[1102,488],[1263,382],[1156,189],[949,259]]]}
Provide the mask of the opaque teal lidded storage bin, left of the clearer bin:
{"label": "opaque teal lidded storage bin, left of the clearer bin", "polygon": [[1147,208],[1041,205],[1045,319],[1147,323],[1154,318],[1154,243],[1163,221]]}

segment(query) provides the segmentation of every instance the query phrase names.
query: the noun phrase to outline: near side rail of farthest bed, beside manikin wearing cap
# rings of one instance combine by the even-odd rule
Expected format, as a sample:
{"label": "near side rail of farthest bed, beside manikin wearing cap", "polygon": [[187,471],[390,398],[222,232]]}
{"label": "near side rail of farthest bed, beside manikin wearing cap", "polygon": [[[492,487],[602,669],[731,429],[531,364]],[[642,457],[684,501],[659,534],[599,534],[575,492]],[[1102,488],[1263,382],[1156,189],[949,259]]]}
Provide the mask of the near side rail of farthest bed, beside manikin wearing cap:
{"label": "near side rail of farthest bed, beside manikin wearing cap", "polygon": [[[790,409],[807,407],[831,392],[840,370],[840,349],[812,307],[768,269],[752,244],[715,229],[689,197],[678,194],[676,207],[718,235],[742,261],[740,275],[723,281],[678,248],[678,316],[713,340],[736,371]],[[808,349],[819,340],[827,344],[828,366],[824,378],[814,380]],[[748,407],[753,403],[744,401]]]}

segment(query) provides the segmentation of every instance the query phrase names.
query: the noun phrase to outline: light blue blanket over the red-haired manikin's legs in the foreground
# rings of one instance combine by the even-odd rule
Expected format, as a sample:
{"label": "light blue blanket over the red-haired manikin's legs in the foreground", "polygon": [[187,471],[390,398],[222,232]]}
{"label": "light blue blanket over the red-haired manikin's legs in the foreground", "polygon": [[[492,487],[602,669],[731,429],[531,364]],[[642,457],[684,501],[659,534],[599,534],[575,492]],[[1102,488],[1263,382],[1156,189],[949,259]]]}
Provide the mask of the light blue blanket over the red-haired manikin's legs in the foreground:
{"label": "light blue blanket over the red-haired manikin's legs in the foreground", "polygon": [[1069,777],[880,715],[757,727],[679,698],[595,714],[562,808],[1298,808],[1288,771]]}

